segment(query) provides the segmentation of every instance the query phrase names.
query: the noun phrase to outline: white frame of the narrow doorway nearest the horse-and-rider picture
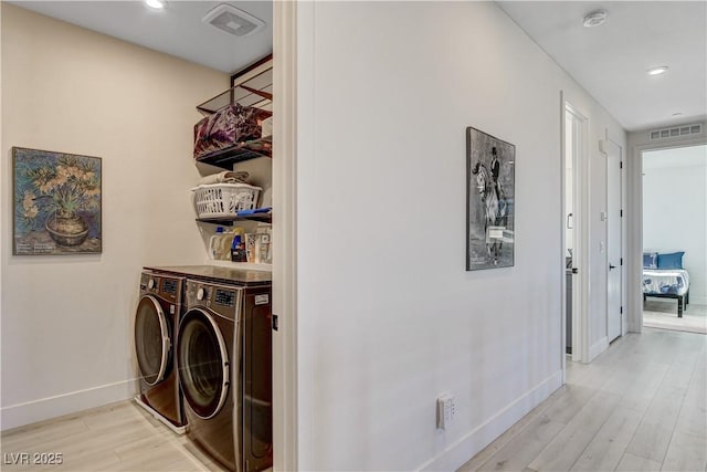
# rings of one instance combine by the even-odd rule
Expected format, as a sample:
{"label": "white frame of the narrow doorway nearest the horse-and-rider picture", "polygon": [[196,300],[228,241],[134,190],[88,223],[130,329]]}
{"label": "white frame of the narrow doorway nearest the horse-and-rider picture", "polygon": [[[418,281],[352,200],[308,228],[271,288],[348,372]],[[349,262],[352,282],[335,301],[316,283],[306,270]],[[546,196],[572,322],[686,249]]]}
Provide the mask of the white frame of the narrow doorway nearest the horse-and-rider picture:
{"label": "white frame of the narrow doorway nearest the horse-and-rider picture", "polygon": [[561,212],[560,212],[560,231],[561,231],[561,303],[562,310],[562,373],[566,371],[566,268],[564,254],[567,254],[567,244],[564,242],[564,224],[566,224],[566,192],[564,175],[567,171],[567,113],[571,114],[580,126],[578,133],[573,136],[573,179],[572,179],[572,212],[577,213],[573,218],[572,231],[572,268],[578,269],[578,273],[572,276],[572,360],[579,363],[588,363],[589,359],[589,296],[590,296],[590,259],[589,259],[589,118],[580,108],[566,98],[563,92],[560,92],[561,103],[561,138],[560,138],[560,169],[561,169]]}

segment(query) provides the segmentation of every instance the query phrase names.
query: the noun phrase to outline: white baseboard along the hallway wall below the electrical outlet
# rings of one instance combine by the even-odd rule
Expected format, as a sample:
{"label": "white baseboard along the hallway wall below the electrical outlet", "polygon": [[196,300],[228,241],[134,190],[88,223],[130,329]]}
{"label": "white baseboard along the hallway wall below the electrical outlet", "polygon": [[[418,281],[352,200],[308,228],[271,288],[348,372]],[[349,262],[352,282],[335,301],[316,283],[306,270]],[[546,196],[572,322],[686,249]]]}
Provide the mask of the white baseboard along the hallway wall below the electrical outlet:
{"label": "white baseboard along the hallway wall below the electrical outlet", "polygon": [[528,392],[498,411],[486,422],[464,434],[441,454],[424,463],[420,471],[455,471],[482,449],[514,426],[520,418],[562,386],[562,370],[542,380]]}

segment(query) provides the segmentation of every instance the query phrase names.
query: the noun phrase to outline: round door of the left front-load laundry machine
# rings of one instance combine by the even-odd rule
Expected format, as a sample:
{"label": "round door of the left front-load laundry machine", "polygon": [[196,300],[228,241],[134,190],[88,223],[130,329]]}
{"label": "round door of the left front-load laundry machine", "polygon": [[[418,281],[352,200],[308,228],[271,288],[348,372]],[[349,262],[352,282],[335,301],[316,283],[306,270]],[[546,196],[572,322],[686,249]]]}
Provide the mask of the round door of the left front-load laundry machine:
{"label": "round door of the left front-load laundry machine", "polygon": [[144,295],[135,314],[135,352],[145,382],[160,382],[171,367],[170,324],[157,298]]}

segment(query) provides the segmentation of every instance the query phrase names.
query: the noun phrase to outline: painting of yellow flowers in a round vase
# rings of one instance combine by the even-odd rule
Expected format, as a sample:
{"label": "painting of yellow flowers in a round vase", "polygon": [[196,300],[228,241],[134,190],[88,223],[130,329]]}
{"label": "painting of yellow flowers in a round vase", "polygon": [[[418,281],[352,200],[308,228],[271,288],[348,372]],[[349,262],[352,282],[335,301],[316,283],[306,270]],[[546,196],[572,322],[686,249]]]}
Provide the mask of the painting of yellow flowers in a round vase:
{"label": "painting of yellow flowers in a round vase", "polygon": [[12,254],[103,252],[99,157],[12,148]]}

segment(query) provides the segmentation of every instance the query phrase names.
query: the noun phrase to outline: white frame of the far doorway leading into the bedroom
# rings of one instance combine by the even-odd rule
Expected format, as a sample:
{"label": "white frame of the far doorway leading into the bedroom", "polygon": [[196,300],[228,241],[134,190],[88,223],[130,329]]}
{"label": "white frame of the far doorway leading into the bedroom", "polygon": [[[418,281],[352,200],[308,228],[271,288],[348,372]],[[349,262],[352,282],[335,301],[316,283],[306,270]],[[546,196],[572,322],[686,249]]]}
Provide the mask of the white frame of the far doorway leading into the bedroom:
{"label": "white frame of the far doorway leading into the bedroom", "polygon": [[631,159],[629,159],[627,166],[629,218],[627,221],[624,221],[627,224],[629,233],[626,248],[629,255],[626,266],[627,332],[643,332],[643,153],[707,145],[705,133],[707,132],[693,138],[673,138],[673,140],[667,138],[664,141],[657,140],[656,143],[631,146]]}

